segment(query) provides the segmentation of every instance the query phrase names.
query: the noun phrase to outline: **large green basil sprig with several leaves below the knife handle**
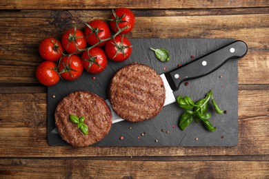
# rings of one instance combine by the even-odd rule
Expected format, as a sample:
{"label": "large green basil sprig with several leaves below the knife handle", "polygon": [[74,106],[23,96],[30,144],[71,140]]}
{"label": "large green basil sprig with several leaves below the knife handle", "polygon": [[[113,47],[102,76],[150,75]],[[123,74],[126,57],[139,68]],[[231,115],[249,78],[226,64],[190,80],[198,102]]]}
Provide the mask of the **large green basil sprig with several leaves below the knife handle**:
{"label": "large green basil sprig with several leaves below the knife handle", "polygon": [[192,98],[190,98],[189,96],[185,96],[184,98],[182,98],[181,96],[177,97],[177,105],[179,105],[179,107],[183,109],[186,109],[186,111],[181,114],[179,118],[179,127],[181,130],[186,129],[186,127],[188,127],[188,125],[190,125],[193,120],[195,120],[195,123],[198,123],[198,121],[200,120],[208,131],[216,130],[216,127],[214,127],[209,121],[209,119],[211,118],[211,113],[207,113],[208,101],[210,101],[210,98],[217,114],[222,114],[223,110],[221,110],[216,104],[212,90],[210,90],[210,92],[206,94],[205,98],[200,99],[196,103],[193,102]]}

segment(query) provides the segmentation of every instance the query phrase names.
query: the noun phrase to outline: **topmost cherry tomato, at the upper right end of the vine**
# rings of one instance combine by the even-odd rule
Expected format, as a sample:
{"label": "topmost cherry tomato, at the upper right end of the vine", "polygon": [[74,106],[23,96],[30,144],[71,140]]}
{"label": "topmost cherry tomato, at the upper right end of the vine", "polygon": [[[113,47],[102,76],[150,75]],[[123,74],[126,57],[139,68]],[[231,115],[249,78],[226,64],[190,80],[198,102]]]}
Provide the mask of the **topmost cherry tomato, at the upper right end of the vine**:
{"label": "topmost cherry tomato, at the upper right end of the vine", "polygon": [[135,26],[135,15],[132,13],[132,10],[128,8],[118,8],[113,12],[110,19],[114,19],[114,21],[110,21],[110,28],[113,32],[118,32],[119,30],[116,23],[118,23],[119,28],[124,28],[128,25],[128,28],[123,30],[120,34],[127,34]]}

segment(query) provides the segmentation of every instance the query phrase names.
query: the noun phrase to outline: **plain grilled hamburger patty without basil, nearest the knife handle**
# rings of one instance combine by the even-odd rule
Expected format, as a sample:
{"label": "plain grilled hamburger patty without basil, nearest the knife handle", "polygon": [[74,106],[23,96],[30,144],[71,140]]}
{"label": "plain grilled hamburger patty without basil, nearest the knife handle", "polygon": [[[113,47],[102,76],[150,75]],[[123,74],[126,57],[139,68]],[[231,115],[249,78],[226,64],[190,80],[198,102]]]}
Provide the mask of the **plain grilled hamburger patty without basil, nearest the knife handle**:
{"label": "plain grilled hamburger patty without basil, nearest the knife handle", "polygon": [[114,74],[108,96],[118,116],[140,122],[159,114],[166,99],[166,89],[155,70],[132,63]]}

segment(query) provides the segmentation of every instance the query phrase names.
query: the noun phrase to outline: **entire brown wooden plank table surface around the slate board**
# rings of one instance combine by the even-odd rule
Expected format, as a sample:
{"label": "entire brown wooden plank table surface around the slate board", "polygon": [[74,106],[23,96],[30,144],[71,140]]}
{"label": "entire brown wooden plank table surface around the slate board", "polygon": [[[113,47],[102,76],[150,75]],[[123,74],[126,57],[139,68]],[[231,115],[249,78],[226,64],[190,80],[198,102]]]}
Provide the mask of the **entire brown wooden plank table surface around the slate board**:
{"label": "entire brown wooden plank table surface around the slate board", "polygon": [[[236,147],[51,147],[47,88],[34,76],[38,45],[74,23],[126,7],[129,38],[235,38]],[[0,178],[269,178],[269,1],[0,1]]]}

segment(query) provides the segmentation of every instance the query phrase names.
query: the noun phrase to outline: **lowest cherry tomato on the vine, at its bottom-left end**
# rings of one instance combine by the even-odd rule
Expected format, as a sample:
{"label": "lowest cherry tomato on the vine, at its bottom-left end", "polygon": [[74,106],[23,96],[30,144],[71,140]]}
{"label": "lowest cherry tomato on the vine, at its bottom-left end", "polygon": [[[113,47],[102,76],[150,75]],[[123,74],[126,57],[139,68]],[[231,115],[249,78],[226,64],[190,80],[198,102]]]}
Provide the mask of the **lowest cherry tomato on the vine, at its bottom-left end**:
{"label": "lowest cherry tomato on the vine, at its bottom-left end", "polygon": [[55,67],[56,63],[52,61],[43,61],[41,64],[39,64],[35,72],[37,80],[42,85],[46,86],[52,86],[58,83],[60,80],[60,76],[57,71],[54,70]]}

